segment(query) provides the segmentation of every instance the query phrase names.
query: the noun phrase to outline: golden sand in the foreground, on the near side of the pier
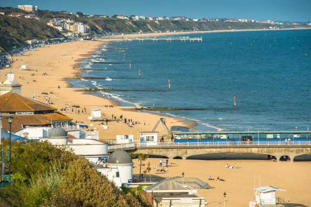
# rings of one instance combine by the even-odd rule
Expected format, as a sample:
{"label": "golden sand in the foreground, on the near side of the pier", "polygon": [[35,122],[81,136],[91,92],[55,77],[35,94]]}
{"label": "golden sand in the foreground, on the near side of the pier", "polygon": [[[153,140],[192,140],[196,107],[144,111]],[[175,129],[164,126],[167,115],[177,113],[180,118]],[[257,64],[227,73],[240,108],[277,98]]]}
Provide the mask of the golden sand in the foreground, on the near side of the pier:
{"label": "golden sand in the foreground, on the near side of the pier", "polygon": [[[139,161],[135,162],[133,175],[139,175]],[[226,193],[226,207],[248,207],[249,201],[254,199],[254,174],[255,187],[259,187],[259,175],[261,186],[275,186],[286,191],[276,191],[277,197],[282,197],[292,207],[311,206],[311,179],[309,172],[311,162],[279,162],[271,160],[193,160],[170,159],[168,172],[157,172],[154,165],[159,166],[160,158],[150,158],[151,176],[174,177],[184,173],[185,177],[197,177],[207,182],[210,189],[198,189],[198,193],[207,201],[209,207],[224,206],[224,192]],[[165,161],[165,159],[164,159]],[[225,168],[225,164],[237,169]],[[144,170],[142,166],[142,170]],[[225,181],[208,180],[208,176],[216,179],[219,176]],[[147,175],[148,177],[149,175]]]}

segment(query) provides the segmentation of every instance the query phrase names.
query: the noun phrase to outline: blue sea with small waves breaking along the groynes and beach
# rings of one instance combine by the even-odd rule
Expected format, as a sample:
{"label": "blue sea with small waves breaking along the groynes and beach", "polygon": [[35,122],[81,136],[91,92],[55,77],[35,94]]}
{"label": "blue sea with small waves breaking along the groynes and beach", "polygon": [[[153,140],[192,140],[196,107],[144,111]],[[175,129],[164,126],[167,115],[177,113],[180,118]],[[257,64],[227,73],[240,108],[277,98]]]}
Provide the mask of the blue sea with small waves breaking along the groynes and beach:
{"label": "blue sea with small waves breaking along the groynes and beach", "polygon": [[[81,67],[106,70],[85,70],[82,75],[108,79],[71,83],[86,88],[144,90],[105,93],[144,107],[208,107],[209,111],[162,112],[217,129],[311,127],[311,30],[220,32],[202,37],[202,43],[123,41],[103,45],[84,60],[90,63]],[[126,52],[119,52],[126,47]],[[96,63],[122,63],[124,53],[125,64]]]}

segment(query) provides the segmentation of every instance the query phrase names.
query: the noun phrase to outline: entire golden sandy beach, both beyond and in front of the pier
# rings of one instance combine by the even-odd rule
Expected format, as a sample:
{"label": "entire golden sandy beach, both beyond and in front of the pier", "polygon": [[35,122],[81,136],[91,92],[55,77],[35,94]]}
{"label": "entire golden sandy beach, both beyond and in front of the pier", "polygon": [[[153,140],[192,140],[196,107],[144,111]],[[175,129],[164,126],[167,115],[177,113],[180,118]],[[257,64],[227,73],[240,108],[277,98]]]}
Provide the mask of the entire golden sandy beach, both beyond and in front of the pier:
{"label": "entire golden sandy beach, both beyond and in front of the pier", "polygon": [[[301,30],[301,28],[299,28]],[[255,31],[255,30],[245,30]],[[259,30],[256,30],[259,31]],[[270,31],[270,30],[267,30]],[[206,32],[235,32],[229,31],[204,31]],[[162,35],[178,34],[161,33]],[[187,32],[180,32],[185,34]],[[194,32],[189,32],[194,33]],[[159,35],[157,33],[156,35]],[[154,36],[154,34],[139,34],[141,36]],[[124,35],[125,36],[125,35]],[[137,35],[135,35],[137,36]],[[71,117],[73,121],[83,121],[86,125],[93,124],[99,130],[100,140],[116,139],[116,135],[133,134],[134,140],[138,138],[139,131],[151,131],[159,117],[165,117],[167,126],[179,125],[185,127],[195,127],[196,123],[180,122],[184,119],[173,118],[169,116],[159,115],[155,113],[134,111],[135,107],[121,106],[118,101],[108,99],[107,97],[94,96],[72,88],[68,80],[78,76],[82,71],[77,65],[81,64],[84,54],[90,54],[95,48],[104,44],[104,41],[79,41],[62,43],[58,45],[47,45],[45,48],[37,48],[37,51],[27,51],[26,56],[14,56],[14,64],[12,70],[15,73],[15,80],[22,84],[21,94],[32,98],[35,91],[35,100],[48,103],[44,96],[51,96],[50,102],[57,109],[70,105],[79,105],[78,108],[71,108],[64,112]],[[21,64],[27,64],[30,70],[20,70]],[[1,81],[6,80],[5,72],[9,69],[0,71]],[[47,75],[42,75],[42,74]],[[34,74],[34,75],[32,75]],[[60,88],[58,88],[58,86]],[[42,92],[48,95],[41,94]],[[50,94],[52,92],[52,94]],[[113,105],[113,108],[102,107],[103,105]],[[86,108],[82,113],[82,109]],[[108,122],[108,129],[100,127],[100,122],[90,122],[90,109],[102,108],[102,112],[111,117],[123,115],[123,118],[138,121],[141,124],[128,127],[124,123]],[[86,113],[85,113],[86,112]],[[146,125],[143,124],[145,120]],[[157,131],[163,133],[163,128],[159,126]],[[133,159],[135,168],[133,174],[139,174],[138,159]],[[311,171],[311,162],[279,162],[271,160],[169,160],[173,164],[167,168],[169,171],[165,173],[156,172],[159,167],[159,158],[148,159],[151,162],[152,175],[157,176],[181,176],[184,172],[186,177],[197,177],[208,182],[210,189],[198,189],[198,193],[205,197],[209,207],[224,206],[224,192],[226,192],[227,207],[248,207],[248,202],[253,201],[254,197],[254,174],[256,174],[255,186],[259,186],[259,175],[261,186],[276,186],[286,191],[277,191],[276,195],[283,197],[288,203],[295,204],[293,207],[310,207],[311,198],[309,196],[311,190],[311,179],[309,172]],[[145,163],[147,163],[145,162]],[[238,169],[225,168],[225,164],[233,165],[237,163]],[[212,178],[220,178],[225,181],[217,182],[215,180],[208,181],[208,176]]]}

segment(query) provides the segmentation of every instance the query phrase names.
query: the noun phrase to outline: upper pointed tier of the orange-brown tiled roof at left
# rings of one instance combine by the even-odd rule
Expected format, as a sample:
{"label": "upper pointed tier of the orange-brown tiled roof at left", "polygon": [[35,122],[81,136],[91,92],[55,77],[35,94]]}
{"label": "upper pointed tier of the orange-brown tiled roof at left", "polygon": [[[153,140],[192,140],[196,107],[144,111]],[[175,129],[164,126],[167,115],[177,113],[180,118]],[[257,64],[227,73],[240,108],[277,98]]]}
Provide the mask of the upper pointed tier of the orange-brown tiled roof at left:
{"label": "upper pointed tier of the orange-brown tiled roof at left", "polygon": [[4,111],[51,111],[54,107],[17,93],[9,92],[0,96],[0,112]]}

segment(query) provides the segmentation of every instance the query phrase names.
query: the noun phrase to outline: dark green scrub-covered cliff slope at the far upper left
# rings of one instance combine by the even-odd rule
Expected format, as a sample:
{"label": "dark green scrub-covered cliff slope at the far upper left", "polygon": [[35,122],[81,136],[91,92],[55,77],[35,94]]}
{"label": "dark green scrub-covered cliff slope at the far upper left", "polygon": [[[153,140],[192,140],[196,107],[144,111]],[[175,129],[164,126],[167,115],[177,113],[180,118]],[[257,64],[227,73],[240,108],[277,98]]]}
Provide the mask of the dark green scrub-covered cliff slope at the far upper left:
{"label": "dark green scrub-covered cliff slope at the far upper left", "polygon": [[56,29],[23,17],[0,16],[0,50],[17,48],[26,40],[43,40],[62,36]]}

